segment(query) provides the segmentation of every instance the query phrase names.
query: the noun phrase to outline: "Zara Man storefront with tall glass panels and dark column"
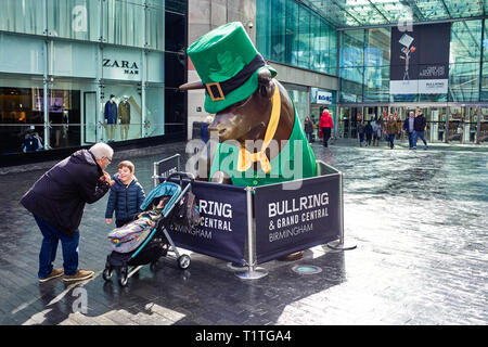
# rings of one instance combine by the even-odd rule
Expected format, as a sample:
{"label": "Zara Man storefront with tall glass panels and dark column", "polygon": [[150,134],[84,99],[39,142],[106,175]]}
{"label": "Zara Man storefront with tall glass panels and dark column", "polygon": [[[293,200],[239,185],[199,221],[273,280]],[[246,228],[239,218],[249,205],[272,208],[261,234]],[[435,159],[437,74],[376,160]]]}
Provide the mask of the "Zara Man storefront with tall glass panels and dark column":
{"label": "Zara Man storefront with tall glass panels and dark column", "polygon": [[3,0],[1,154],[184,139],[187,17],[176,0]]}

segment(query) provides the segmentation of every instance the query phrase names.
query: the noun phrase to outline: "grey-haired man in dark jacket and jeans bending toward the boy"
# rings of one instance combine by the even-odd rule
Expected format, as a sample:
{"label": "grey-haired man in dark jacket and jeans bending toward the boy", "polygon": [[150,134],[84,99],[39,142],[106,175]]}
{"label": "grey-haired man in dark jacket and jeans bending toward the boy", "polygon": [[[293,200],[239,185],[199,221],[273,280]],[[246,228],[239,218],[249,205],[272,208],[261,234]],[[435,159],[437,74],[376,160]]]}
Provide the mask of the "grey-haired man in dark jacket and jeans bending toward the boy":
{"label": "grey-haired man in dark jacket and jeans bending toward the boy", "polygon": [[[78,269],[78,244],[85,204],[102,198],[113,185],[104,171],[114,151],[105,143],[79,150],[54,165],[24,194],[21,204],[34,215],[43,235],[39,254],[39,281],[61,277],[86,280],[93,271]],[[57,244],[63,248],[63,269],[53,269]]]}

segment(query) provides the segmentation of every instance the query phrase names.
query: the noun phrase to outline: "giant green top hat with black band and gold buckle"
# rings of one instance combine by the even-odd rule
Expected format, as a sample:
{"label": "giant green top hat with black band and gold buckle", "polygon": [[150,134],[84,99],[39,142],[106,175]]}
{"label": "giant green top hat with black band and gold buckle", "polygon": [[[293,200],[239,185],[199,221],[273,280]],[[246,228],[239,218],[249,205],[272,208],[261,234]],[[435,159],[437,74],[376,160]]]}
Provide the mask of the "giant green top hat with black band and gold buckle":
{"label": "giant green top hat with black band and gold buckle", "polygon": [[205,111],[218,113],[253,94],[258,72],[267,65],[240,22],[228,23],[205,34],[187,50],[202,82],[180,89],[205,88]]}

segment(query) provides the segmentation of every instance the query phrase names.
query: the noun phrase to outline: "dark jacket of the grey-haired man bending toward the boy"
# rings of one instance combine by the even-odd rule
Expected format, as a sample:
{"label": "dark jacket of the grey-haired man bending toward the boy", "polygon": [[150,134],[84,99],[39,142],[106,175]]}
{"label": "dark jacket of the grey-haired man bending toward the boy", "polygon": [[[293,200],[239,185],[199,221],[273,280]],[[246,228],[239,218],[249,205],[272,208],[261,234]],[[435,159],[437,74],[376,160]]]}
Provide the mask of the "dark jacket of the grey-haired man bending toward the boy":
{"label": "dark jacket of the grey-haired man bending toward the boy", "polygon": [[100,200],[110,189],[101,167],[88,150],[54,165],[24,194],[21,204],[59,231],[72,236],[81,222],[85,204]]}

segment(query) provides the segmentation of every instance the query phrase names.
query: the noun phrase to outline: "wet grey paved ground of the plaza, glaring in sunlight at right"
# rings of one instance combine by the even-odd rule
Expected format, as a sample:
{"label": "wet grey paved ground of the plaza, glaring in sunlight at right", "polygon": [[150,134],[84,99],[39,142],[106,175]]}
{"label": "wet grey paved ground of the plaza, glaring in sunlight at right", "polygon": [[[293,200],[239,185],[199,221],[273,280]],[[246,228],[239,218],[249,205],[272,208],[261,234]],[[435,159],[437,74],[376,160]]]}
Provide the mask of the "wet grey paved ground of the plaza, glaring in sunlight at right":
{"label": "wet grey paved ground of the plaza, glaring in sunlight at right", "polygon": [[[317,158],[345,175],[346,245],[357,248],[313,247],[300,260],[264,264],[269,274],[255,281],[240,280],[223,260],[191,254],[184,272],[163,261],[155,272],[144,267],[126,288],[105,283],[106,195],[87,205],[80,226],[80,268],[95,277],[39,284],[41,234],[18,201],[46,164],[3,174],[0,323],[486,325],[488,153],[404,146],[358,149],[343,141],[324,150],[314,144]],[[146,193],[152,163],[184,152],[184,144],[155,151],[114,156],[114,163],[134,162]],[[112,164],[108,171],[115,170]],[[298,264],[322,272],[297,274],[292,268]],[[62,267],[61,249],[54,265]]]}

